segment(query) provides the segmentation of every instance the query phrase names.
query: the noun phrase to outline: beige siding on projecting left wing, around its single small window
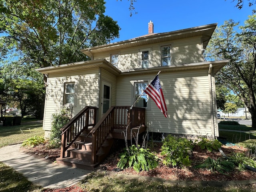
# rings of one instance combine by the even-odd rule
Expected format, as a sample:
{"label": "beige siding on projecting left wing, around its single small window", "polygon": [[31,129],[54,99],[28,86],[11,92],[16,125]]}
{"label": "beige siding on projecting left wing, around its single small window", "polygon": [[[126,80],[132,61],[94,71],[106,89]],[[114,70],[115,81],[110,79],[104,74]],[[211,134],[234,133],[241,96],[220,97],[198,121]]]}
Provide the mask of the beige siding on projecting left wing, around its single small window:
{"label": "beige siding on projecting left wing, around its single small window", "polygon": [[68,107],[72,110],[74,117],[85,106],[98,107],[98,69],[83,70],[70,73],[50,74],[45,100],[44,130],[51,129],[52,114],[59,112],[63,107],[63,93],[65,82],[75,82],[74,106]]}

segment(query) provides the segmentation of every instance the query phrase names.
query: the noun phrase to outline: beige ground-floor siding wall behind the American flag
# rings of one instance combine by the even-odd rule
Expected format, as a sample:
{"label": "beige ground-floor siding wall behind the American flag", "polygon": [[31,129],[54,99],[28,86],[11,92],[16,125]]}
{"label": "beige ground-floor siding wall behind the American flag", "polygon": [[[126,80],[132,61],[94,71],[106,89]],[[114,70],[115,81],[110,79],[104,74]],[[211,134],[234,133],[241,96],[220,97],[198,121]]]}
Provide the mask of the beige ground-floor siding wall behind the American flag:
{"label": "beige ground-floor siding wall behind the American flag", "polygon": [[[116,104],[131,105],[133,101],[131,81],[151,81],[155,75],[118,78]],[[149,99],[150,109],[146,109],[148,131],[211,135],[208,71],[160,73],[159,78],[166,100],[168,118],[165,118],[156,104]]]}

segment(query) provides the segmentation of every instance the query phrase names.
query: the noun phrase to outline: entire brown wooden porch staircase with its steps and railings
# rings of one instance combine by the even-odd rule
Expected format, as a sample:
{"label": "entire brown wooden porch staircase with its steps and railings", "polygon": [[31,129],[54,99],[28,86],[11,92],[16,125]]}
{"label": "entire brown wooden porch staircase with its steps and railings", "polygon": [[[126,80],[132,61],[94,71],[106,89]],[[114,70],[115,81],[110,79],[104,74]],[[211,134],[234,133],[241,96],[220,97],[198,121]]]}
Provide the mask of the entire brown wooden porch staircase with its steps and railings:
{"label": "entire brown wooden porch staircase with its steps and railings", "polygon": [[126,133],[129,140],[131,134],[146,130],[144,108],[111,107],[97,123],[96,113],[96,107],[87,106],[61,128],[58,163],[92,170],[108,156],[116,139],[124,139]]}

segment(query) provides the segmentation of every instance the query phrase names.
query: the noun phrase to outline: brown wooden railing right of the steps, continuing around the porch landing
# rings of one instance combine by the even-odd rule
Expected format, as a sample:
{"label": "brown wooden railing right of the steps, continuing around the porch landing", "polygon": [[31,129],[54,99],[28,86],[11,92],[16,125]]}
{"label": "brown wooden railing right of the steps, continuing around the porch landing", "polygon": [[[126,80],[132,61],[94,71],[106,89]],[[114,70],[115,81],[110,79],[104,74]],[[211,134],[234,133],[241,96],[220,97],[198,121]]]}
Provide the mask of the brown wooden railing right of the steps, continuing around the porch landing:
{"label": "brown wooden railing right of the steps, continuing around the porch landing", "polygon": [[133,107],[130,109],[130,106],[116,106],[108,109],[88,134],[92,135],[92,164],[96,163],[96,154],[110,132],[114,129],[126,130],[129,124],[128,132],[131,128],[145,124],[145,108]]}

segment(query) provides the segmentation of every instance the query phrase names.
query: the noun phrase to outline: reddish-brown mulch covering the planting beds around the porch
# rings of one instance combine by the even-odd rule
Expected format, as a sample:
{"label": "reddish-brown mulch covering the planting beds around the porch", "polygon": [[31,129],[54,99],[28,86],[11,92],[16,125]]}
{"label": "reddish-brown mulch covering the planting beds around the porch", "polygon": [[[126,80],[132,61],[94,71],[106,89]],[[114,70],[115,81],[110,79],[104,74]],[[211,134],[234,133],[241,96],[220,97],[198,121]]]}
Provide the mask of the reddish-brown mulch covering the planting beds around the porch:
{"label": "reddish-brown mulch covering the planting beds around the porch", "polygon": [[[161,143],[156,143],[152,151],[155,151],[158,157],[162,158],[162,156],[160,155],[160,149],[161,149]],[[42,156],[42,157],[48,156],[48,159],[52,161],[55,161],[60,154],[60,149],[48,150],[45,145],[39,145],[29,149],[27,148],[26,150],[29,150],[30,152],[38,154],[39,156]],[[240,146],[222,145],[222,150],[226,154],[226,156],[229,156],[233,153],[246,152],[246,148],[243,148]],[[119,160],[119,155],[121,152],[122,150],[116,150],[98,168],[102,168],[107,171],[114,171],[114,169],[117,168],[116,165]],[[192,166],[190,167],[185,167],[182,169],[174,168],[174,167],[165,166],[160,162],[159,166],[154,170],[142,171],[138,173],[133,168],[127,168],[125,170],[117,172],[117,174],[151,176],[151,177],[163,178],[166,180],[194,180],[194,181],[198,181],[198,180],[229,181],[229,180],[249,180],[249,179],[256,178],[256,173],[249,170],[244,170],[242,172],[235,170],[230,174],[230,176],[226,176],[218,172],[211,172],[210,170],[193,168],[194,165],[200,164],[200,162],[203,162],[208,157],[216,160],[218,157],[221,157],[221,156],[222,154],[218,151],[208,152],[207,150],[201,150],[198,146],[196,146],[193,149],[192,156],[190,157],[190,159],[192,160]],[[62,188],[62,189],[44,190],[44,192],[82,192],[82,191],[83,190],[81,190],[81,188],[79,188],[76,185],[68,188]]]}

